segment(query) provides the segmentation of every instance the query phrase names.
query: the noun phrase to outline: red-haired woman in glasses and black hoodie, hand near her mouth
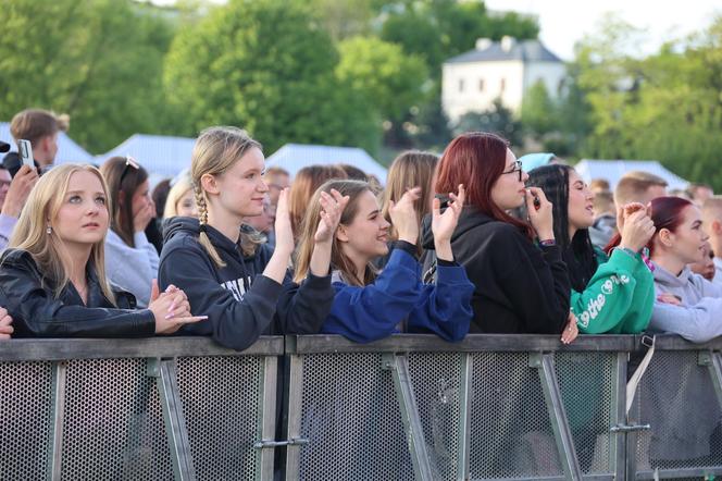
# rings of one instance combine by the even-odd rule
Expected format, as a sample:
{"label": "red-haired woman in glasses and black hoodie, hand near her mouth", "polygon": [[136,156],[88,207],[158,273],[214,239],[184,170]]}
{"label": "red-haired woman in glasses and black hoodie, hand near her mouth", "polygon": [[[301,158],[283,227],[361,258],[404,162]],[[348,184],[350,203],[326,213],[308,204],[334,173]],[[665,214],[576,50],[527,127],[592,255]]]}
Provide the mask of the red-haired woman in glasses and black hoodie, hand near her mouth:
{"label": "red-haired woman in glasses and black hoodie, hand near her mouth", "polygon": [[[571,284],[555,240],[551,203],[542,189],[524,187],[527,178],[508,143],[494,134],[460,135],[439,161],[437,193],[469,186],[451,246],[475,285],[470,332],[551,334],[567,326],[562,340],[571,341]],[[531,225],[507,213],[523,203]]]}

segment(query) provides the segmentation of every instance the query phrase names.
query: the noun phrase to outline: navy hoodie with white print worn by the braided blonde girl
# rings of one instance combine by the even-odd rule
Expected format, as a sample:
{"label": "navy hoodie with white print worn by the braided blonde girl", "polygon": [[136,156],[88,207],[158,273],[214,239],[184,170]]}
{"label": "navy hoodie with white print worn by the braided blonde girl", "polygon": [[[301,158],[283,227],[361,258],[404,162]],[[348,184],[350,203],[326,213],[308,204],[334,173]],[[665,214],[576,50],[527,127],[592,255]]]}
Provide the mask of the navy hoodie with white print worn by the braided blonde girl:
{"label": "navy hoodie with white print worn by the braided blonde girl", "polygon": [[217,269],[198,243],[198,220],[177,217],[164,224],[160,286],[180,287],[194,314],[208,316],[208,320],[184,325],[183,333],[211,336],[242,350],[263,334],[321,331],[335,295],[331,275],[309,273],[299,286],[289,273],[281,285],[262,275],[273,254],[265,244],[253,256],[244,256],[238,245],[210,225],[207,233],[226,267]]}

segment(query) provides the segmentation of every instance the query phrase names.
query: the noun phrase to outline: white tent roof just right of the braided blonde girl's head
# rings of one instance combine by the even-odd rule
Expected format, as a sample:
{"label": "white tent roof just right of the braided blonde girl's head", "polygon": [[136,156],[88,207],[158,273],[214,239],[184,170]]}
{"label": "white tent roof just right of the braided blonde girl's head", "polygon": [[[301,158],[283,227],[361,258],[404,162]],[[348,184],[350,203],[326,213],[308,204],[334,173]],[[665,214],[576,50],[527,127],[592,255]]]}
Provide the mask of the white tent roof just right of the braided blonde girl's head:
{"label": "white tent roof just right of the braided blonde girl's head", "polygon": [[386,168],[365,150],[356,147],[286,144],[265,161],[266,168],[284,168],[291,177],[308,165],[332,165],[336,163],[354,165],[369,174],[375,175],[382,183],[386,182]]}

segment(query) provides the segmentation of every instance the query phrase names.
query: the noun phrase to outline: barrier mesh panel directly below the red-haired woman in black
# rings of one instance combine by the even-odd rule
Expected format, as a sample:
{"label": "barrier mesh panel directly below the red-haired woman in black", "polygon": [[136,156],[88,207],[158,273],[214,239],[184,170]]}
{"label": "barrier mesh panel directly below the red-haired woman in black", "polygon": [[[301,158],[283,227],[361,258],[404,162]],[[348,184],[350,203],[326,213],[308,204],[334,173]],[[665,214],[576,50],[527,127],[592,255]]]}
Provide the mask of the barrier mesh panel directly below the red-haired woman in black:
{"label": "barrier mesh panel directly below the red-haired woman in black", "polygon": [[526,353],[475,353],[472,479],[562,476],[539,372]]}

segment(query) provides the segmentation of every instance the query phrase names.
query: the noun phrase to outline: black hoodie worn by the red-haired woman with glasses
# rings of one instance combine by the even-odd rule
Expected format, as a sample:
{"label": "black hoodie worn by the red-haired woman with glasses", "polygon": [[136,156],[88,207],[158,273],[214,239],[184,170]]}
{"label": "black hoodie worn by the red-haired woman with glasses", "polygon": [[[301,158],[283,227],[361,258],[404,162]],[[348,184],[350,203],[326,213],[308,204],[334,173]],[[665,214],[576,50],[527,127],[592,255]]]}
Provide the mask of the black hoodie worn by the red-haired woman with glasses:
{"label": "black hoodie worn by the red-haired woman with glasses", "polygon": [[[428,224],[424,222],[423,244],[433,249]],[[515,226],[466,206],[451,237],[451,249],[475,286],[469,332],[562,332],[571,285],[559,247],[539,248]],[[424,272],[432,258],[425,256]]]}

